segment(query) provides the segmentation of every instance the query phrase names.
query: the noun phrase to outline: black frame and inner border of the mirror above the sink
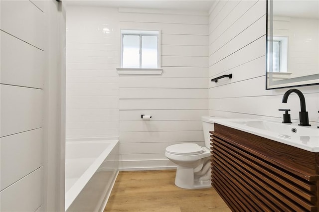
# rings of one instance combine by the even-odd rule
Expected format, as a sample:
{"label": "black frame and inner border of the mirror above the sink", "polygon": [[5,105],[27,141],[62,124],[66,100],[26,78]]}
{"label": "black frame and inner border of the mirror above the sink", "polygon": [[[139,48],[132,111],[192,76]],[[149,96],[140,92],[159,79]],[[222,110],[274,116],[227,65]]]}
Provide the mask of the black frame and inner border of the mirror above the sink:
{"label": "black frame and inner border of the mirror above the sink", "polygon": [[[283,83],[283,84],[279,84],[278,83],[278,87],[272,87],[272,88],[269,88],[268,86],[268,57],[270,55],[268,55],[268,49],[270,48],[270,50],[272,51],[272,45],[268,46],[268,41],[270,41],[269,43],[272,44],[272,37],[273,37],[273,34],[269,28],[268,30],[268,26],[272,27],[273,25],[273,11],[272,11],[272,8],[273,8],[273,0],[266,0],[266,75],[265,75],[265,78],[266,78],[266,90],[272,90],[272,89],[282,89],[282,88],[293,88],[293,87],[301,87],[301,86],[314,86],[314,85],[319,85],[319,83],[306,83],[307,81],[295,81],[295,82],[300,82],[301,84],[299,85],[286,85],[286,84],[289,84],[289,83],[295,83],[295,82],[288,82],[288,83]],[[268,37],[271,37],[270,39],[268,39]],[[270,62],[269,64],[272,65],[272,57],[270,58]],[[318,74],[315,74],[315,75],[319,75]],[[308,75],[308,76],[312,76],[312,75]],[[298,77],[299,79],[303,79],[303,78],[307,78],[308,76],[305,76],[305,77]],[[296,78],[296,79],[298,79]],[[292,78],[294,79],[294,78]],[[281,86],[281,85],[286,85],[286,86]]]}

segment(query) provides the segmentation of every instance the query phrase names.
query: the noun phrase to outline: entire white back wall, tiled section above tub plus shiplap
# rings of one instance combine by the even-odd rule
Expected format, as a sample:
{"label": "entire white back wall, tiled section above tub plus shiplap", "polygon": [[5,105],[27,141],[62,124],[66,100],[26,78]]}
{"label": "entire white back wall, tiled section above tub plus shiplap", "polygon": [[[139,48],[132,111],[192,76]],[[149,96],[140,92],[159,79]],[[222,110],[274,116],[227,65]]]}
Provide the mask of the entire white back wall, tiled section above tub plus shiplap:
{"label": "entire white back wall, tiled section above tub plus shiplap", "polygon": [[[119,77],[120,29],[161,30],[161,75]],[[119,136],[122,170],[174,166],[166,146],[203,145],[207,64],[206,13],[68,6],[67,138]]]}

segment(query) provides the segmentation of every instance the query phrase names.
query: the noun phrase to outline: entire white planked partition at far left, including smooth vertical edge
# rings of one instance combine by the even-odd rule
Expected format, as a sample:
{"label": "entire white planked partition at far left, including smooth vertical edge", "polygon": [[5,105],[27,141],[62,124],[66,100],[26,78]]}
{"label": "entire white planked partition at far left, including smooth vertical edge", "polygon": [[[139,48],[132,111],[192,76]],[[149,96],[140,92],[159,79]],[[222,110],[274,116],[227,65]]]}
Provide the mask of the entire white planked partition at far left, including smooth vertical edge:
{"label": "entire white planked partition at far left, including smooth vertical edge", "polygon": [[62,5],[0,1],[0,211],[64,211]]}

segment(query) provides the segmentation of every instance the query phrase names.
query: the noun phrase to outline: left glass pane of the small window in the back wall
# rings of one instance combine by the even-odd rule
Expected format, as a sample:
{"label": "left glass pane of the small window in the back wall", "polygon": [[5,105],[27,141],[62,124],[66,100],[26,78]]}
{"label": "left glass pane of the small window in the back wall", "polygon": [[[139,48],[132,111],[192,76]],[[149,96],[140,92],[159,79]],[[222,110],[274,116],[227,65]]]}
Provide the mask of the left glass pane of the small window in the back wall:
{"label": "left glass pane of the small window in the back wall", "polygon": [[140,68],[139,35],[123,35],[123,68]]}

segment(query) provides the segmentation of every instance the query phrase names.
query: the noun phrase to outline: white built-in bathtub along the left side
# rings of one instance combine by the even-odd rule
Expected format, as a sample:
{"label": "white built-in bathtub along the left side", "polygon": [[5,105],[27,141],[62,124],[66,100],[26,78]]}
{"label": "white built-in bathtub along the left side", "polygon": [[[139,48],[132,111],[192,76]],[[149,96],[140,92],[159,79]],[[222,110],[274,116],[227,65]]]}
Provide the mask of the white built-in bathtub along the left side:
{"label": "white built-in bathtub along the left side", "polygon": [[65,211],[103,211],[118,174],[118,139],[67,141]]}

